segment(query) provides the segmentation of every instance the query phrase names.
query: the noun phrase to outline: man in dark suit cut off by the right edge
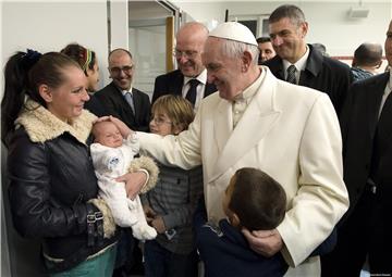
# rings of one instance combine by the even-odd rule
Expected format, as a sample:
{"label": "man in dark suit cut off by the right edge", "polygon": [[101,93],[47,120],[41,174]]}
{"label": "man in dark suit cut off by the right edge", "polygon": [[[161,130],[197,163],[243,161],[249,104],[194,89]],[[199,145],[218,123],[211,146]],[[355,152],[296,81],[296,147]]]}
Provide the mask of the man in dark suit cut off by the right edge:
{"label": "man in dark suit cut off by the right edge", "polygon": [[[385,39],[392,64],[392,21]],[[322,276],[359,276],[366,257],[372,276],[392,275],[392,73],[353,84],[341,116],[344,181],[350,210]]]}

